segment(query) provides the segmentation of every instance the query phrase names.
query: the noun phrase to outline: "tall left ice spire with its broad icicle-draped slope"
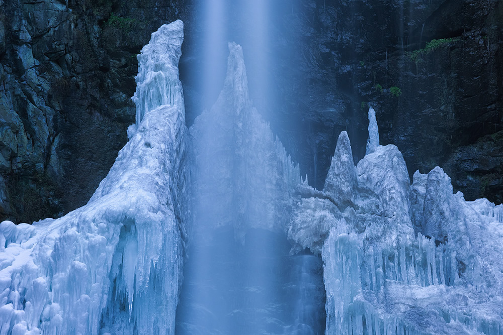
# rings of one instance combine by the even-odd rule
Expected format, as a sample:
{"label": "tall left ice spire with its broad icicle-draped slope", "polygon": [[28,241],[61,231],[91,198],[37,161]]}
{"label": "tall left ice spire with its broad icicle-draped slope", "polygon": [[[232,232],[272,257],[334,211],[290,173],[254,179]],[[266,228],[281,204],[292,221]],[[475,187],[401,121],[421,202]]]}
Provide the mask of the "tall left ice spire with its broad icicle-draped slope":
{"label": "tall left ice spire with its broad icicle-draped slope", "polygon": [[174,332],[188,219],[182,40],[177,21],[142,49],[137,127],[88,204],[0,224],[1,334]]}

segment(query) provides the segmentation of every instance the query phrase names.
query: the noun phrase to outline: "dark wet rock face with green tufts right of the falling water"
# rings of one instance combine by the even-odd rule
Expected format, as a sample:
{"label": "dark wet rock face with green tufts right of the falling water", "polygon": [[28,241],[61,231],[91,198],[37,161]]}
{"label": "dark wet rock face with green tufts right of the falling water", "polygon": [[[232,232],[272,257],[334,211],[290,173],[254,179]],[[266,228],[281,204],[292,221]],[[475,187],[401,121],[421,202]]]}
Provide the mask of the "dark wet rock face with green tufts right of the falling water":
{"label": "dark wet rock face with green tufts right of the falling water", "polygon": [[287,40],[299,68],[281,80],[295,92],[282,117],[309,129],[279,132],[318,189],[332,134],[348,132],[356,162],[365,154],[371,105],[381,144],[400,149],[410,176],[439,165],[468,199],[503,200],[499,2],[313,1],[289,15],[280,25],[301,36]]}

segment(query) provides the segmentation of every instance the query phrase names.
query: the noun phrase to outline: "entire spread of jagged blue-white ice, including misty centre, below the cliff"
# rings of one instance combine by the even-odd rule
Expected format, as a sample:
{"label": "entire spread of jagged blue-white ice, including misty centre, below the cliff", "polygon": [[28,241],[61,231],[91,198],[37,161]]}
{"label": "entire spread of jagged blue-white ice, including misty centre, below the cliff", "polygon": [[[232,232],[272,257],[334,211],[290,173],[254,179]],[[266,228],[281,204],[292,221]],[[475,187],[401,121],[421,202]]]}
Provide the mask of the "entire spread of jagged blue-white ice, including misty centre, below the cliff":
{"label": "entire spread of jagged blue-white ice, including misty centre, below the cliff", "polygon": [[0,224],[0,335],[503,334],[503,205],[453,194],[440,167],[411,183],[373,108],[366,156],[336,134],[312,188],[235,43],[188,130],[182,41],[176,21],[142,49],[136,124],[89,202]]}

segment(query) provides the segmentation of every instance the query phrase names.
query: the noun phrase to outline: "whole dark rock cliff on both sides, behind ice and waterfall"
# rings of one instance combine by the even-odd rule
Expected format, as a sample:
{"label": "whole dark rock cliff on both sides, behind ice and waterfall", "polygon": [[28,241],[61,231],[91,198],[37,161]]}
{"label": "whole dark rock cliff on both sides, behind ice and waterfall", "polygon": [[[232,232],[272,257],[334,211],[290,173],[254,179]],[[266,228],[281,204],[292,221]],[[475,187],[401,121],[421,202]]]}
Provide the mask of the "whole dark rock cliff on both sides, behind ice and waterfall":
{"label": "whole dark rock cliff on both sides, behind ice and waterfall", "polygon": [[[135,56],[176,19],[185,22],[192,123],[204,107],[201,3],[0,0],[0,220],[59,216],[87,202],[134,122]],[[355,161],[363,157],[370,104],[381,144],[396,144],[410,173],[440,165],[467,199],[502,202],[499,3],[278,0],[266,50],[274,101],[255,104],[318,188],[341,131]],[[246,14],[229,4],[226,38],[253,56]],[[254,59],[246,59],[252,97]]]}

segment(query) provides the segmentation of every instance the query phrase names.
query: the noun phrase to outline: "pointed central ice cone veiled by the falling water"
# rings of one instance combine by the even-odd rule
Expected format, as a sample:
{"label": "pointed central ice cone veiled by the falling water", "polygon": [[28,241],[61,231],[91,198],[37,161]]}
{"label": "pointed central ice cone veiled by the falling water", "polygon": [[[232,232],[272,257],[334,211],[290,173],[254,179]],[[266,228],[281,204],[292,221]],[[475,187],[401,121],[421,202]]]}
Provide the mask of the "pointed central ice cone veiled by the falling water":
{"label": "pointed central ice cone veiled by the falling water", "polygon": [[283,231],[300,183],[283,145],[253,107],[241,46],[229,43],[227,76],[213,107],[190,129],[195,148],[195,229],[232,225]]}

